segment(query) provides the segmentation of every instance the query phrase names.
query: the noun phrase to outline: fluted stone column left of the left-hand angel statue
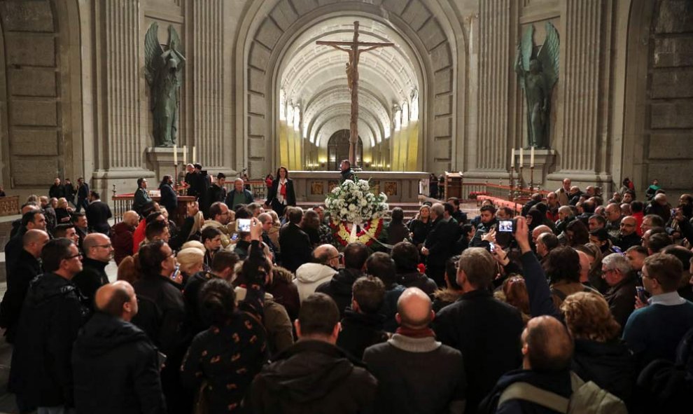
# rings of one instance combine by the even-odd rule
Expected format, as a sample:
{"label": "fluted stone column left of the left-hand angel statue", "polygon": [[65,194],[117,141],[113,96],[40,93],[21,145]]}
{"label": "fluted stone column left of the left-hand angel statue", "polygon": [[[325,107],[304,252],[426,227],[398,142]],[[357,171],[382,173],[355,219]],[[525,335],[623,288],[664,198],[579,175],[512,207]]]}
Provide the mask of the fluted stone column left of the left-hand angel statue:
{"label": "fluted stone column left of the left-hand angel statue", "polygon": [[[97,138],[94,140],[98,164],[92,188],[110,194],[134,191],[137,177],[154,177],[144,167],[149,109],[144,93],[144,34],[141,34],[142,6],[139,0],[109,0],[95,4],[97,47],[96,106]],[[167,36],[159,30],[159,38]],[[105,196],[104,196],[105,197]]]}

